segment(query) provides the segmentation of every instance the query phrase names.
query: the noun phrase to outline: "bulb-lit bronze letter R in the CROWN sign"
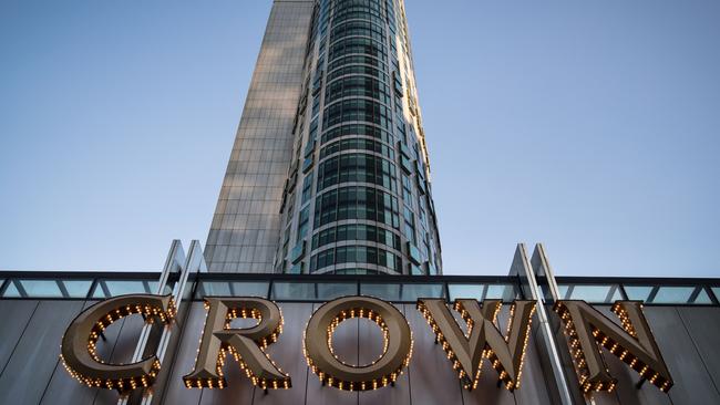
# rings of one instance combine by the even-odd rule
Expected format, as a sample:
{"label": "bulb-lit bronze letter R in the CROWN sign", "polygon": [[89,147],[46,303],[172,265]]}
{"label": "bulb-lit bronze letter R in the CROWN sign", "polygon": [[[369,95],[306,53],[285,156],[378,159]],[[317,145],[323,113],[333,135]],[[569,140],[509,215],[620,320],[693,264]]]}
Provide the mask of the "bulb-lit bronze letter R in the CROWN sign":
{"label": "bulb-lit bronze letter R in the CROWN sign", "polygon": [[[205,308],[208,313],[195,370],[183,377],[185,386],[225,387],[223,366],[230,353],[254,385],[264,390],[290,387],[290,376],[265,353],[282,332],[282,314],[274,302],[260,298],[207,297]],[[247,329],[230,329],[230,322],[238,318],[254,318],[259,323]]]}

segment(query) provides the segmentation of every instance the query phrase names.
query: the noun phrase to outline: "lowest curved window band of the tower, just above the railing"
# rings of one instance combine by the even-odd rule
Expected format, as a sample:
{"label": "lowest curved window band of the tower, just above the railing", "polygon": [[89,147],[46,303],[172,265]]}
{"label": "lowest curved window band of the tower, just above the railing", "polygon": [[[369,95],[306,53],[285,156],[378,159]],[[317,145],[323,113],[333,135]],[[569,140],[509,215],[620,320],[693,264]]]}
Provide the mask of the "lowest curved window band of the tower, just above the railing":
{"label": "lowest curved window band of the tower, just above the railing", "polygon": [[384,249],[369,246],[343,246],[312,255],[310,258],[310,272],[342,263],[377,264],[393,271],[402,269],[400,257]]}

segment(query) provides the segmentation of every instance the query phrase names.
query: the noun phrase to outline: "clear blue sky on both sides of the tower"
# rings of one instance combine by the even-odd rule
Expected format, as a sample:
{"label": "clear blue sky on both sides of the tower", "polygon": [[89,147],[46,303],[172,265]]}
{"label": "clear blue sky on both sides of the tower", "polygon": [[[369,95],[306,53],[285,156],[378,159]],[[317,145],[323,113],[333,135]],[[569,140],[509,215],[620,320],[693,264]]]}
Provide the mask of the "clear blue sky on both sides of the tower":
{"label": "clear blue sky on both sides of the tower", "polygon": [[[0,269],[204,243],[270,6],[0,1]],[[720,277],[720,1],[407,9],[445,273]]]}

